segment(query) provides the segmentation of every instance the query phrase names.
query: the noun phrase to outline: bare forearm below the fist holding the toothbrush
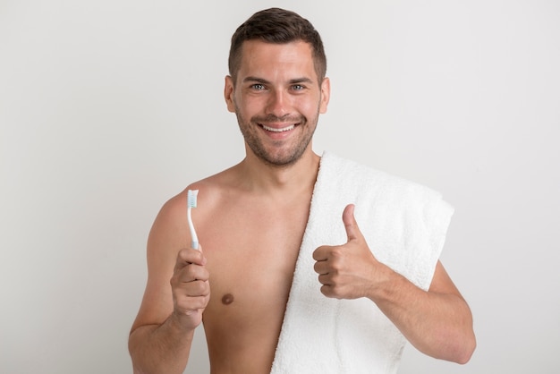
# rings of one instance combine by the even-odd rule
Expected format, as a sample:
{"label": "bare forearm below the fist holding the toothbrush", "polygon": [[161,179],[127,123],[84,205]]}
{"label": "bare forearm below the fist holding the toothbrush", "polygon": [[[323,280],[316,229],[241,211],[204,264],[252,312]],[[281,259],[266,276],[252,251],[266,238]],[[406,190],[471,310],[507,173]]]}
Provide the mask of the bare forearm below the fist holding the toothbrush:
{"label": "bare forearm below the fist holding the toothbrush", "polygon": [[191,352],[194,330],[185,330],[174,316],[162,325],[137,327],[129,337],[134,373],[182,373]]}

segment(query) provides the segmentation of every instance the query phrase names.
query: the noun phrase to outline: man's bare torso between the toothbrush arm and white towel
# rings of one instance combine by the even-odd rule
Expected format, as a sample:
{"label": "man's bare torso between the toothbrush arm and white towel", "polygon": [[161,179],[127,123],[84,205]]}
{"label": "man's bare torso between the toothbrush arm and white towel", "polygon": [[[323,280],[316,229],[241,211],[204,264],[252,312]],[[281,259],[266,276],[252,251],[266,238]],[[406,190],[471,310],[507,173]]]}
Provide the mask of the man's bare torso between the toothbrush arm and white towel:
{"label": "man's bare torso between the toothbrush arm and white towel", "polygon": [[203,323],[212,373],[269,372],[310,211],[312,186],[282,199],[199,183],[193,220],[210,274]]}

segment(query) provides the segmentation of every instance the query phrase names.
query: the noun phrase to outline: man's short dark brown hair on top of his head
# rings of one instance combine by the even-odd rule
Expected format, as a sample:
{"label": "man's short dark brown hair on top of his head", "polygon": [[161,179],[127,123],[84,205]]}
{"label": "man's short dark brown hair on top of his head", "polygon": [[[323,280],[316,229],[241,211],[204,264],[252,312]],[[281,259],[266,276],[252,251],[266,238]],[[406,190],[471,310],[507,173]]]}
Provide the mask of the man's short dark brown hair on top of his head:
{"label": "man's short dark brown hair on top of his head", "polygon": [[246,40],[259,39],[267,43],[284,44],[302,40],[311,45],[313,64],[317,72],[318,84],[327,73],[327,56],[323,42],[310,21],[299,14],[280,8],[270,8],[254,13],[249,20],[235,30],[229,52],[229,73],[233,84],[237,79],[242,59],[242,45]]}

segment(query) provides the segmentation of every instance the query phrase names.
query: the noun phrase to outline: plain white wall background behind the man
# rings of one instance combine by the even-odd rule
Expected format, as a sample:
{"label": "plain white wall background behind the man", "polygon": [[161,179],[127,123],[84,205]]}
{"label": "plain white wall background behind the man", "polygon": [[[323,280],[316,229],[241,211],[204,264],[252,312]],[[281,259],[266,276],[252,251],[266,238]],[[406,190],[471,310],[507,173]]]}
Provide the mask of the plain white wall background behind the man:
{"label": "plain white wall background behind the man", "polygon": [[[315,149],[442,191],[443,262],[470,302],[465,366],[553,373],[560,347],[556,1],[0,1],[0,371],[131,372],[158,209],[243,157],[229,39],[279,5],[321,32]],[[201,330],[188,372],[208,372]]]}

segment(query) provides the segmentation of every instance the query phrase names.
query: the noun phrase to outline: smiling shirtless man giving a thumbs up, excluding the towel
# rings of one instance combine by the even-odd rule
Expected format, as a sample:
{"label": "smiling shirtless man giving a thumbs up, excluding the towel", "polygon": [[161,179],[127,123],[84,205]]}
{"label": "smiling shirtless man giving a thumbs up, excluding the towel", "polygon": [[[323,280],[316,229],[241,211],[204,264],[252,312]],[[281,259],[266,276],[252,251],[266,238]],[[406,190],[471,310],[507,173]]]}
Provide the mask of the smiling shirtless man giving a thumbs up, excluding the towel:
{"label": "smiling shirtless man giving a thumbs up, excluding the towel", "polygon": [[[188,187],[199,190],[192,213],[199,251],[189,244],[186,191],[158,214],[148,238],[148,285],[129,341],[135,372],[182,372],[202,319],[211,372],[266,373],[276,365],[288,296],[298,299],[291,293],[294,269],[317,193],[321,157],[311,139],[319,114],[327,111],[326,66],[318,32],[295,13],[255,13],[236,30],[225,102],[237,115],[246,157]],[[437,258],[429,289],[422,289],[378,260],[354,205],[340,213],[342,219],[335,219],[346,243],[323,242],[328,245],[300,255],[313,258],[301,273],[314,276],[320,299],[343,307],[361,299],[421,352],[469,361],[475,346],[471,312]],[[383,248],[378,253],[383,256]],[[288,368],[283,365],[275,370]]]}

